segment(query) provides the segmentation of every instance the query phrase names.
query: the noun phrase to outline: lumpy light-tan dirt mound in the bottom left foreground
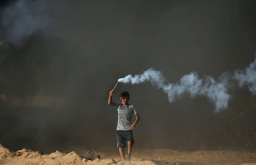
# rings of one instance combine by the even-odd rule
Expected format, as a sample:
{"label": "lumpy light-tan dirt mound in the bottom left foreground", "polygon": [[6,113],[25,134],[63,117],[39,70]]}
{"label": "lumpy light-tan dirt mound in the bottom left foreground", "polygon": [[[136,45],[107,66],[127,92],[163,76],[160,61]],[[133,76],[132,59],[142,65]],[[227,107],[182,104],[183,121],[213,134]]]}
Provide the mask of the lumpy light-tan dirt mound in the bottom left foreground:
{"label": "lumpy light-tan dirt mound in the bottom left foreground", "polygon": [[[90,155],[90,153],[89,153]],[[22,149],[11,152],[0,145],[0,164],[155,164],[151,161],[115,162],[113,159],[101,159],[96,155],[92,159],[76,154],[56,151],[51,154],[41,154],[38,151]]]}

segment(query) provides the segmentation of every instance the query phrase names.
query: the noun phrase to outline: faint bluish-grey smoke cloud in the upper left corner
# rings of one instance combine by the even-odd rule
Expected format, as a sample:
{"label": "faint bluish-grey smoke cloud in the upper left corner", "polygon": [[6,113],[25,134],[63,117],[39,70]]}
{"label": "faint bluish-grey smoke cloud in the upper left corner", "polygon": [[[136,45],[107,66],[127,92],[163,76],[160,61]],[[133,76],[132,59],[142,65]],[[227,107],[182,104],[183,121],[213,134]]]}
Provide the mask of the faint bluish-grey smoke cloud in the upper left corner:
{"label": "faint bluish-grey smoke cloud in the upper left corner", "polygon": [[36,31],[46,32],[50,22],[46,1],[15,1],[1,11],[3,40],[20,45]]}

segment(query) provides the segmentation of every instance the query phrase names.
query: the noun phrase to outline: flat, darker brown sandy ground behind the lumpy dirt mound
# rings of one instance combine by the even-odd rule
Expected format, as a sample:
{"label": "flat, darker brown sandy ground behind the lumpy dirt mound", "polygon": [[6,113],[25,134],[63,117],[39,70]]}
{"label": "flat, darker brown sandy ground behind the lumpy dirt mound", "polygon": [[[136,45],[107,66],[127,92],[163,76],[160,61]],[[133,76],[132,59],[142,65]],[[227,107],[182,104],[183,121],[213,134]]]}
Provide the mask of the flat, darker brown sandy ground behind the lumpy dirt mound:
{"label": "flat, darker brown sandy ground behind the lumpy dirt mound", "polygon": [[[99,151],[105,159],[120,160],[117,153]],[[149,160],[155,164],[244,164],[256,165],[256,152],[253,151],[178,151],[170,149],[137,150],[132,153],[133,161]]]}

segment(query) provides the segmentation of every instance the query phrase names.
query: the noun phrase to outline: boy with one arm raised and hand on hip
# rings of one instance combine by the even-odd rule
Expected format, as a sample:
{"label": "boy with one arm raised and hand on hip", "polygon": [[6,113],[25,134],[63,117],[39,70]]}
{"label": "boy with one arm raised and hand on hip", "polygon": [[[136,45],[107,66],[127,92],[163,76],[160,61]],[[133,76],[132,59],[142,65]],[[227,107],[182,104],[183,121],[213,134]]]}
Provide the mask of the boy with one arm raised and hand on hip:
{"label": "boy with one arm raised and hand on hip", "polygon": [[[137,122],[139,121],[139,115],[136,112],[133,105],[128,104],[130,100],[130,95],[128,92],[123,91],[120,94],[120,100],[122,103],[114,103],[112,101],[113,90],[109,92],[109,105],[113,105],[118,111],[118,122],[117,122],[117,147],[121,155],[121,159],[125,161],[125,151],[123,147],[128,146],[128,156],[127,160],[131,158],[131,147],[133,146],[133,129],[135,128]],[[135,115],[136,120],[131,124],[131,117]]]}

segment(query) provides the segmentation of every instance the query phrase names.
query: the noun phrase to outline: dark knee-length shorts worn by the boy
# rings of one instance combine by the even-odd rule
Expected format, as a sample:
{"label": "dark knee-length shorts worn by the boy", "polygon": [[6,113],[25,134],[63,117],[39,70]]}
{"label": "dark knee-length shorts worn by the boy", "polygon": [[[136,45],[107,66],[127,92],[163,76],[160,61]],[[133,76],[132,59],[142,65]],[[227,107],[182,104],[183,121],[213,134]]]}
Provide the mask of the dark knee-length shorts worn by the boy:
{"label": "dark knee-length shorts worn by the boy", "polygon": [[132,130],[117,130],[117,147],[126,147],[126,143],[130,141],[134,143]]}

